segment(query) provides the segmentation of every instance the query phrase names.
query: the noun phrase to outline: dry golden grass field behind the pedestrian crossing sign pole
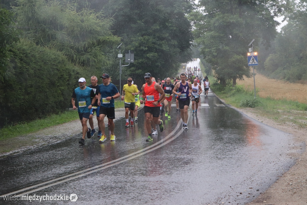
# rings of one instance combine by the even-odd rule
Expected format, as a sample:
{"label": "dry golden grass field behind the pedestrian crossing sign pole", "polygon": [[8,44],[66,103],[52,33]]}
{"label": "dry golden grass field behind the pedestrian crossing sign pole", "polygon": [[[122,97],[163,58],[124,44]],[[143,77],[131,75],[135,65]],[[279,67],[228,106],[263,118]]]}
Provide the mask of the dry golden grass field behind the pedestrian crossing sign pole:
{"label": "dry golden grass field behind the pedestrian crossing sign pole", "polygon": [[[258,74],[256,70],[255,73],[256,91],[259,97],[307,103],[307,85],[269,79]],[[244,81],[237,81],[237,85],[244,85],[246,89],[254,91],[254,78],[245,78]]]}

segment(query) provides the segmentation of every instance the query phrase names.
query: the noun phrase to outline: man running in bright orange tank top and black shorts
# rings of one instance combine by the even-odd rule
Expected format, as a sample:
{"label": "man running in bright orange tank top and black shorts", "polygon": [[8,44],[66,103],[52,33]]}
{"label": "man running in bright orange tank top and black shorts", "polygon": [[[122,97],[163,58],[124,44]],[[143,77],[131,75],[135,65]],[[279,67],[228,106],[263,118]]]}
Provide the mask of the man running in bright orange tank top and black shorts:
{"label": "man running in bright orange tank top and black shorts", "polygon": [[[144,98],[146,99],[144,112],[146,118],[146,130],[148,132],[146,142],[148,142],[153,140],[150,125],[151,115],[153,116],[154,123],[159,125],[160,132],[163,132],[164,130],[163,121],[159,119],[159,116],[161,107],[160,102],[165,97],[165,93],[163,92],[163,89],[159,84],[152,81],[150,73],[145,73],[144,78],[146,83],[142,86],[142,97],[140,99],[140,102],[143,103]],[[159,93],[161,94],[160,97]]]}

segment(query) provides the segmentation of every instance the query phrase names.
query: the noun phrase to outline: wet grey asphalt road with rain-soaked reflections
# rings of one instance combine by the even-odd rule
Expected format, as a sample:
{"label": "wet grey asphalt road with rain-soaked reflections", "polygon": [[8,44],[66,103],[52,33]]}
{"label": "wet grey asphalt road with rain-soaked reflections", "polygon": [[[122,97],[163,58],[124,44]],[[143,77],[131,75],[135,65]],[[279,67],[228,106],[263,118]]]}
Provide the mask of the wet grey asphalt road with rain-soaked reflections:
{"label": "wet grey asphalt road with rain-soaked reflections", "polygon": [[76,194],[74,204],[244,204],[295,163],[291,153],[299,145],[288,133],[229,108],[213,93],[201,95],[200,103],[197,116],[189,109],[185,131],[172,107],[153,142],[145,141],[141,109],[134,127],[125,128],[124,119],[115,123],[114,142],[99,144],[95,134],[82,146],[79,135],[1,159],[0,195]]}

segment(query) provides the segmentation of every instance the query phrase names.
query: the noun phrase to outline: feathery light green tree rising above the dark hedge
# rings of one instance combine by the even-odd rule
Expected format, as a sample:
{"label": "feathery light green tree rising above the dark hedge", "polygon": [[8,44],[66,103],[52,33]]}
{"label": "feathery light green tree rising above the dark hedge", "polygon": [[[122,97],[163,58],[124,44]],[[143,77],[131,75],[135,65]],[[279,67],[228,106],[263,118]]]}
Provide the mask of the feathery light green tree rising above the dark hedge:
{"label": "feathery light green tree rising above the dark hedge", "polygon": [[110,64],[107,53],[120,42],[112,35],[112,18],[102,12],[57,0],[17,0],[13,7],[18,26],[37,45],[57,49],[74,64],[101,68]]}

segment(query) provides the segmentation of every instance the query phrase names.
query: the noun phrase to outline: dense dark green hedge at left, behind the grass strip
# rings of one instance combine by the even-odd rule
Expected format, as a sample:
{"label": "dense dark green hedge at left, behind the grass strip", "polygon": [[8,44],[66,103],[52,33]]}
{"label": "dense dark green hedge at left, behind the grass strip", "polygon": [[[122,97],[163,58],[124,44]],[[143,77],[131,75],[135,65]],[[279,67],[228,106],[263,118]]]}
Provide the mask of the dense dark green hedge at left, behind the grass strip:
{"label": "dense dark green hedge at left, behind the grass strip", "polygon": [[0,128],[68,108],[79,72],[60,53],[22,40],[0,82]]}

